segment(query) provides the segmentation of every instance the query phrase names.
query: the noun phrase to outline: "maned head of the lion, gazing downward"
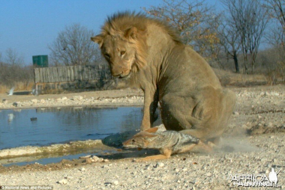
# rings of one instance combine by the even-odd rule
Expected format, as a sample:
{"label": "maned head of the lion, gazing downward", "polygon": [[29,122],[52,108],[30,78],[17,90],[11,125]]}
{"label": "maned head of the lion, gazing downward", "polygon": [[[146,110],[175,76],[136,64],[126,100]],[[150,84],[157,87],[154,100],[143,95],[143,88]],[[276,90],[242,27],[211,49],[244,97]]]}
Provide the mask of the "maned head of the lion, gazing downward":
{"label": "maned head of the lion, gazing downward", "polygon": [[108,19],[101,34],[91,37],[99,44],[113,76],[129,78],[131,73],[146,65],[146,30],[137,18],[129,14],[116,14]]}

